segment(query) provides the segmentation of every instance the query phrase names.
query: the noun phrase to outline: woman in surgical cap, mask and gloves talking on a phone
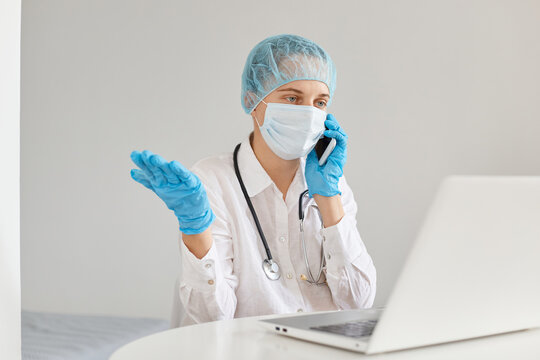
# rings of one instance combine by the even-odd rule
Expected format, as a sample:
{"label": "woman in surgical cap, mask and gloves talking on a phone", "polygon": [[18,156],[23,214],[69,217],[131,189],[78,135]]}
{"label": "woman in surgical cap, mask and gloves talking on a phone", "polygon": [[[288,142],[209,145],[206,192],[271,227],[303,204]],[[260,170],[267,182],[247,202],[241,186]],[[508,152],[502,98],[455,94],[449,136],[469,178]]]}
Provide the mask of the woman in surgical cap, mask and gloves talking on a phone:
{"label": "woman in surgical cap, mask and gloves talking on a phone", "polygon": [[[269,37],[245,64],[241,101],[254,130],[234,152],[191,171],[148,150],[132,152],[140,168],[132,178],[180,224],[182,325],[372,306],[375,267],[343,176],[347,135],[326,112],[335,83],[320,46]],[[320,165],[314,146],[323,134],[336,146]]]}

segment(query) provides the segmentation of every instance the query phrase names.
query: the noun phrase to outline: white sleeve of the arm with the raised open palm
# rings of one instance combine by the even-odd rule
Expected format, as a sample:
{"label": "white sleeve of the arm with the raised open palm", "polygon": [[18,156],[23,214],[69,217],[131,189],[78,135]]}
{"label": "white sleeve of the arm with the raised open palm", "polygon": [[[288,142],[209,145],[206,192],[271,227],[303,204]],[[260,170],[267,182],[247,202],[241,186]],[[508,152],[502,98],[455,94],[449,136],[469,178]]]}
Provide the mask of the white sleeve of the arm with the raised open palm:
{"label": "white sleeve of the arm with the raised open palm", "polygon": [[[193,170],[192,170],[193,171]],[[195,171],[193,171],[195,172]],[[205,181],[215,220],[210,226],[212,246],[198,259],[184,244],[180,233],[181,254],[180,300],[186,314],[196,323],[232,319],[236,311],[238,279],[233,273],[233,243],[228,213],[216,189],[217,179]]]}

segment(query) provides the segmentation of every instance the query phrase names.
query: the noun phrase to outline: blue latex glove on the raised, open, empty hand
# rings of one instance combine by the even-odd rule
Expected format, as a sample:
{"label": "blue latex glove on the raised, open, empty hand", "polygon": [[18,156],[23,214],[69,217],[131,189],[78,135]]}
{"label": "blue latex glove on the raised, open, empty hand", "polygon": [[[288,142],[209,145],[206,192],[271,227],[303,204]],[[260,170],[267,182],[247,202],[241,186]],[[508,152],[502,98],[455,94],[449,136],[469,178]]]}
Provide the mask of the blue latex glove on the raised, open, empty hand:
{"label": "blue latex glove on the raised, open, empty hand", "polygon": [[148,150],[133,151],[131,160],[139,169],[131,169],[133,180],[156,193],[174,211],[185,234],[200,234],[215,219],[203,184],[178,161],[167,162]]}

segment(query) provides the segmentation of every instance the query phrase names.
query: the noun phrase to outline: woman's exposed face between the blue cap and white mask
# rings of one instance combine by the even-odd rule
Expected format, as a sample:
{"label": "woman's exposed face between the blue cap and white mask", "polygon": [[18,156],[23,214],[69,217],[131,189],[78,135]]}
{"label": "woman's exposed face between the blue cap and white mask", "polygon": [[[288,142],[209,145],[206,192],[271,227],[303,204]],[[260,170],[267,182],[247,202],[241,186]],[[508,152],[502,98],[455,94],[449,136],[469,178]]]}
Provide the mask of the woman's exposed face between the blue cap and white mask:
{"label": "woman's exposed face between the blue cap and white mask", "polygon": [[[266,103],[281,103],[294,105],[310,105],[326,111],[326,105],[330,95],[328,86],[318,80],[295,80],[282,85],[268,94],[264,101]],[[262,126],[266,105],[260,102],[252,115],[255,115]]]}

